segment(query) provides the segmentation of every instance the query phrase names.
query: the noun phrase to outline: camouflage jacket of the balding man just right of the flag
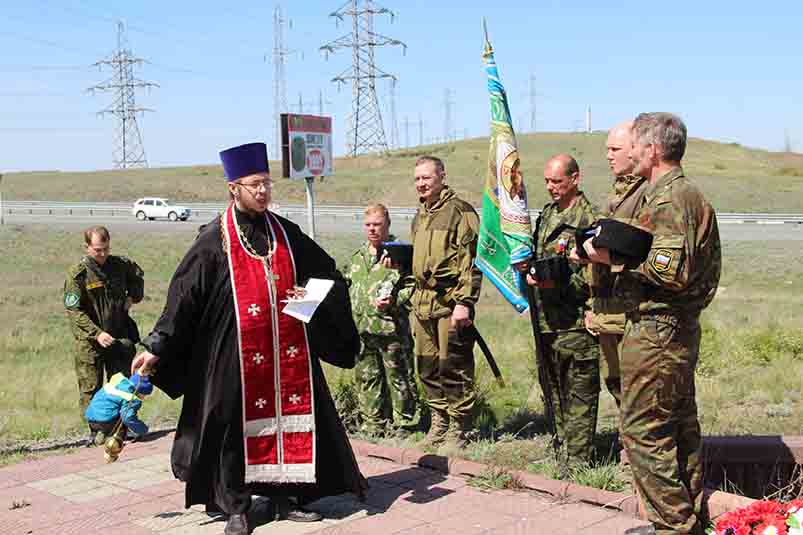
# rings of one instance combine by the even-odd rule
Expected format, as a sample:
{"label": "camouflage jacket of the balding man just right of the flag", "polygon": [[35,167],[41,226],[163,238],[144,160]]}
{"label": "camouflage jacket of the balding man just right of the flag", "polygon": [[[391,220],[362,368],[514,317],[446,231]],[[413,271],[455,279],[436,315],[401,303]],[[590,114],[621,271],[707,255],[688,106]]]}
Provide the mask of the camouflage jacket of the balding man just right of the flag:
{"label": "camouflage jacket of the balding man just right of the flag", "polygon": [[[538,258],[550,256],[568,257],[575,246],[574,228],[547,238],[561,224],[582,228],[591,225],[597,218],[597,210],[583,192],[577,193],[577,200],[569,208],[560,211],[558,204],[553,202],[544,206],[541,211],[541,221],[538,225],[538,236],[535,243],[538,246]],[[540,305],[539,319],[541,332],[559,333],[566,331],[585,330],[584,314],[587,309],[588,294],[583,290],[582,279],[578,276],[582,266],[570,262],[572,271],[567,284],[555,288],[539,288],[537,295]]]}

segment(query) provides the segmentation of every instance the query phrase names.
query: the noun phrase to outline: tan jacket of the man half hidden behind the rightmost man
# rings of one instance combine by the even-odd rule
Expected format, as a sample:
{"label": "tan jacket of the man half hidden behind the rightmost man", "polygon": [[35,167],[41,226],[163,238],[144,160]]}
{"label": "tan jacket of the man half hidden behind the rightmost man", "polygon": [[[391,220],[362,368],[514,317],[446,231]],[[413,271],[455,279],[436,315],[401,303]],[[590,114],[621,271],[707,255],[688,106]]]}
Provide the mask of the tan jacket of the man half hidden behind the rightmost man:
{"label": "tan jacket of the man half hidden behind the rightmost man", "polygon": [[[633,224],[636,211],[639,208],[647,180],[634,175],[616,177],[613,184],[613,191],[608,196],[608,205],[603,217],[611,217],[621,220],[628,224]],[[613,286],[616,273],[622,270],[623,266],[611,266],[605,264],[588,264],[586,276],[588,277],[589,290],[591,292],[591,310],[595,315],[616,315],[619,318],[600,318],[601,324],[617,324],[620,332],[624,329],[624,302],[620,298],[613,296]],[[600,332],[608,332],[604,325],[598,325]]]}

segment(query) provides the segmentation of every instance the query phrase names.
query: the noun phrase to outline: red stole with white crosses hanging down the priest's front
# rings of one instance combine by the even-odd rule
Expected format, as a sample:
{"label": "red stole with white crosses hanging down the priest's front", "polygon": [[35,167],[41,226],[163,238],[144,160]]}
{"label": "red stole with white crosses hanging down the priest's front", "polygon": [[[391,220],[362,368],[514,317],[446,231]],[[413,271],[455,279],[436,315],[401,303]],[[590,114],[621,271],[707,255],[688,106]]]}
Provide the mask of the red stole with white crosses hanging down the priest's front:
{"label": "red stole with white crosses hanging down the priest's front", "polygon": [[[282,225],[265,213],[270,263],[249,253],[232,203],[223,231],[234,293],[243,393],[245,481],[315,482],[312,369],[304,324],[279,311],[295,285],[295,260]],[[278,275],[278,278],[276,277]]]}

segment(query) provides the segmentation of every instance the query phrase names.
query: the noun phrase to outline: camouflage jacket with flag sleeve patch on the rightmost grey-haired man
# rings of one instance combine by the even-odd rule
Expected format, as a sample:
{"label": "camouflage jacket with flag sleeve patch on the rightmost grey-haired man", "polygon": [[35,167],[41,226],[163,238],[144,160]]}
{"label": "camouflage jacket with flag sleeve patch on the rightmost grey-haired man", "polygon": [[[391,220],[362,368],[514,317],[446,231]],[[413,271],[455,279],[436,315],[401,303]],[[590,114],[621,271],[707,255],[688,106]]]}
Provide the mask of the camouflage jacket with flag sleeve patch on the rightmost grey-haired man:
{"label": "camouflage jacket with flag sleeve patch on the rightmost grey-haired man", "polygon": [[642,314],[699,315],[722,268],[714,209],[676,167],[645,187],[636,222],[652,232],[652,248],[644,263],[619,275],[617,294],[638,296]]}

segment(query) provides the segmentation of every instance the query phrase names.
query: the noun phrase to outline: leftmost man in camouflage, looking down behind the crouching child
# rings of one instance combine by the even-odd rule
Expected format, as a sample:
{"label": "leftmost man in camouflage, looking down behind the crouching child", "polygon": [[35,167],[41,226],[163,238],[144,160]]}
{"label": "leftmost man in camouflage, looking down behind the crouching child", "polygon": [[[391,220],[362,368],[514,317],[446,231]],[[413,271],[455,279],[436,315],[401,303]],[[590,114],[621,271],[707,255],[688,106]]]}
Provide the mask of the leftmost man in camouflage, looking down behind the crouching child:
{"label": "leftmost man in camouflage, looking down behind the crouching child", "polygon": [[139,331],[128,315],[133,303],[142,301],[145,281],[142,269],[124,256],[109,254],[110,237],[105,227],[84,232],[86,256],[67,270],[64,307],[76,340],[75,374],[78,377],[81,417],[106,378],[126,377],[139,342]]}

